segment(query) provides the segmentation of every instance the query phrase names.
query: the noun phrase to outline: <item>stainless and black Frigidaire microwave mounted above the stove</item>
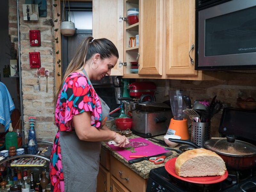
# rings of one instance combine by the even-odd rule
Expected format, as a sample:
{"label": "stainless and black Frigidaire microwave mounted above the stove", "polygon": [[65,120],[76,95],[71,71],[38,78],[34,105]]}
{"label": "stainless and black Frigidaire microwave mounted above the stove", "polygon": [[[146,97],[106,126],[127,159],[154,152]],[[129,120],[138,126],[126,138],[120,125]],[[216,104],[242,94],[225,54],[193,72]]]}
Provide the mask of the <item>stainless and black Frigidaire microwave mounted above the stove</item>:
{"label": "stainless and black Frigidaire microwave mounted above the stove", "polygon": [[195,68],[256,68],[256,0],[196,0]]}

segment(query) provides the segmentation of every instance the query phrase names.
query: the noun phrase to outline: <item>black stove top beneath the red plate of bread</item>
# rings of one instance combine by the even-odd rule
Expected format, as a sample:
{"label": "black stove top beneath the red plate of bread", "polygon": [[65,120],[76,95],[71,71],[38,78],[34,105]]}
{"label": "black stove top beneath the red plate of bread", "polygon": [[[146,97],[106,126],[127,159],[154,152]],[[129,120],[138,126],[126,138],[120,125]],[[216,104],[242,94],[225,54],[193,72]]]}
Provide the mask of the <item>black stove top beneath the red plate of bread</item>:
{"label": "black stove top beneath the red plate of bread", "polygon": [[228,171],[228,178],[215,184],[196,184],[171,176],[163,167],[149,172],[147,192],[251,192],[256,191],[256,171]]}

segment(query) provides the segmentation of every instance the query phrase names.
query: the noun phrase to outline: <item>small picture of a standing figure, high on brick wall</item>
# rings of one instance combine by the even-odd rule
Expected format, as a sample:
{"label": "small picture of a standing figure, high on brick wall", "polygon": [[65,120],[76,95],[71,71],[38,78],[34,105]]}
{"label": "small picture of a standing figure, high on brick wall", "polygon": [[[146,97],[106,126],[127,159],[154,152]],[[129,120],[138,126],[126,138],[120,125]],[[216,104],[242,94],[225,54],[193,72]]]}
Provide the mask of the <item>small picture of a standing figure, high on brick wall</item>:
{"label": "small picture of a standing figure, high on brick wall", "polygon": [[23,20],[37,21],[38,20],[38,5],[37,4],[23,4]]}

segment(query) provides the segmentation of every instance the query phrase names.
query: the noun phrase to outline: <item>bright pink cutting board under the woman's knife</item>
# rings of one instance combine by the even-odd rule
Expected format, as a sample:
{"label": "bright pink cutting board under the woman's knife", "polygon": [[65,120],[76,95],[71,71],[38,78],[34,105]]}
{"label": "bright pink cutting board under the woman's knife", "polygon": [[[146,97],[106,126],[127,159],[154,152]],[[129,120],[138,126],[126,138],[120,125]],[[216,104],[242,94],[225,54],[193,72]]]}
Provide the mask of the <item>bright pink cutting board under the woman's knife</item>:
{"label": "bright pink cutting board under the woman's knife", "polygon": [[146,140],[146,139],[141,138],[141,137],[135,138],[135,139],[130,139],[130,141],[144,142],[144,143],[148,143],[149,145],[144,146],[144,147],[134,148],[134,150],[136,152],[132,153],[131,151],[125,150],[124,148],[116,147],[114,145],[109,145],[108,143],[106,143],[106,144],[127,160],[133,159],[133,158],[129,157],[130,155],[152,156],[152,155],[157,155],[157,154],[160,154],[160,153],[168,152],[168,151],[164,150],[164,147],[160,147],[158,145],[155,145],[155,144],[151,143],[149,140]]}

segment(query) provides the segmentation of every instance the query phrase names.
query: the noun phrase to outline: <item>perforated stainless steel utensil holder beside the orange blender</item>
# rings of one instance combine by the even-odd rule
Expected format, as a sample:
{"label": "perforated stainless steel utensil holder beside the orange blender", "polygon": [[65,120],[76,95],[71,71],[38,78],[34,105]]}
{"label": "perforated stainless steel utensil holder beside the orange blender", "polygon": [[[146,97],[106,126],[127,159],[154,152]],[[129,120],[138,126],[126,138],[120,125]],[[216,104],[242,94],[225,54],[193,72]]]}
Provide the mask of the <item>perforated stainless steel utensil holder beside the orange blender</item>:
{"label": "perforated stainless steel utensil holder beside the orange blender", "polygon": [[191,141],[204,147],[204,141],[210,139],[210,123],[192,122]]}

